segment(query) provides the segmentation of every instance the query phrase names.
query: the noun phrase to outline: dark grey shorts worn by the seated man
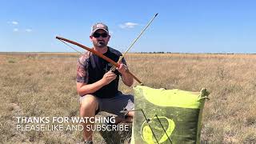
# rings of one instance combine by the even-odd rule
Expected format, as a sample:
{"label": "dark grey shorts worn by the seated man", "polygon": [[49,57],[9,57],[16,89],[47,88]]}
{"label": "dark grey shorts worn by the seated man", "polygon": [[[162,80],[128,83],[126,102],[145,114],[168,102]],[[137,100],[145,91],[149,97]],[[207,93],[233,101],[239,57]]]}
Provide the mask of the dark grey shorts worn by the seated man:
{"label": "dark grey shorts worn by the seated man", "polygon": [[[80,103],[82,102],[82,98],[85,97],[86,95],[80,98]],[[99,111],[106,111],[110,114],[118,115],[120,118],[125,118],[126,113],[123,113],[123,110],[134,110],[134,96],[130,94],[118,92],[114,98],[97,98],[97,100],[98,110],[96,114],[98,114]]]}

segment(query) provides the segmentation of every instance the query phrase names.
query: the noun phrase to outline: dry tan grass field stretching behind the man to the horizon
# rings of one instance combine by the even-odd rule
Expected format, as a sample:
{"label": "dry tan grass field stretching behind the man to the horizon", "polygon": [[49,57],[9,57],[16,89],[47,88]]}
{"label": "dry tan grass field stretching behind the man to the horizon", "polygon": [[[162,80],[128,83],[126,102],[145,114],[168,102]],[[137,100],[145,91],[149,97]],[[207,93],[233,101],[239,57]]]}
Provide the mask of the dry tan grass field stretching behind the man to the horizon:
{"label": "dry tan grass field stretching behind the man to the horizon", "polygon": [[[78,116],[78,56],[0,54],[0,143],[80,142],[80,131],[15,129],[18,116]],[[202,143],[256,143],[255,54],[128,54],[126,62],[146,86],[210,90],[202,118]],[[120,83],[120,90],[133,93]],[[96,143],[103,142],[99,134],[95,136]]]}

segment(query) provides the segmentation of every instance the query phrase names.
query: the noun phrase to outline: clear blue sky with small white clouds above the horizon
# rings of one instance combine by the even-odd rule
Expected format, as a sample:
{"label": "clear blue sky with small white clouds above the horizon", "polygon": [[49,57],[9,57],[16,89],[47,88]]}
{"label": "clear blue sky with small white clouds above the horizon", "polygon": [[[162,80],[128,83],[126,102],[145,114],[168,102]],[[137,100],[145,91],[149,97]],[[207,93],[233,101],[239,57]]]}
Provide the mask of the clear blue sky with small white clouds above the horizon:
{"label": "clear blue sky with small white clouds above the horizon", "polygon": [[109,46],[125,51],[158,13],[130,52],[254,54],[255,6],[246,0],[1,0],[0,51],[73,52],[55,36],[92,46],[95,22],[109,26]]}

